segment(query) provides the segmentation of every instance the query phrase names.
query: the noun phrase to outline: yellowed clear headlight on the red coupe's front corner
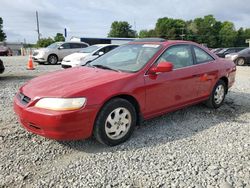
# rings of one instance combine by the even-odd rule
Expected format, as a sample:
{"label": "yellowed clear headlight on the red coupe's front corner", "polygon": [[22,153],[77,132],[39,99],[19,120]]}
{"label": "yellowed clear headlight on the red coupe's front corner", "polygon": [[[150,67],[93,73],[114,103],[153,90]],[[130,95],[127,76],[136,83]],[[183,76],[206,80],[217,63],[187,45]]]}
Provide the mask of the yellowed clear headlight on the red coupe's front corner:
{"label": "yellowed clear headlight on the red coupe's front corner", "polygon": [[57,111],[77,110],[83,107],[86,101],[86,98],[43,98],[35,107]]}

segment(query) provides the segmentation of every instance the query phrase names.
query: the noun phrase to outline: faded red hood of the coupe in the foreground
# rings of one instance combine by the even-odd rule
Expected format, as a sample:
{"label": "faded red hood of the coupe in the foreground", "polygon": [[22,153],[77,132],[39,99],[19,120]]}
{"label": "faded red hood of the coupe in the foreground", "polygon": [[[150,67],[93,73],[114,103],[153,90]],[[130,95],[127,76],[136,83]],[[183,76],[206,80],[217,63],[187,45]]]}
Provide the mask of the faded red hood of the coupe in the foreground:
{"label": "faded red hood of the coupe in the foreground", "polygon": [[99,68],[77,67],[34,78],[22,86],[20,92],[33,100],[42,97],[81,97],[85,90],[131,75]]}

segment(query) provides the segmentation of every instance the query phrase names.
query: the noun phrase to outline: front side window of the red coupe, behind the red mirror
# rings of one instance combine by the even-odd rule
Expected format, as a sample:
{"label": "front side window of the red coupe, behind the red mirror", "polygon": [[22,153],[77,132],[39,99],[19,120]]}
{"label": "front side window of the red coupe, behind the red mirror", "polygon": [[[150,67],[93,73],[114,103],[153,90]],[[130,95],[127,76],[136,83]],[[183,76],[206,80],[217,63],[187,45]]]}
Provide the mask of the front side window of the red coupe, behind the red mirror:
{"label": "front side window of the red coupe, behind the red mirror", "polygon": [[176,45],[169,47],[158,59],[160,62],[170,62],[174,69],[193,65],[193,56],[189,45]]}

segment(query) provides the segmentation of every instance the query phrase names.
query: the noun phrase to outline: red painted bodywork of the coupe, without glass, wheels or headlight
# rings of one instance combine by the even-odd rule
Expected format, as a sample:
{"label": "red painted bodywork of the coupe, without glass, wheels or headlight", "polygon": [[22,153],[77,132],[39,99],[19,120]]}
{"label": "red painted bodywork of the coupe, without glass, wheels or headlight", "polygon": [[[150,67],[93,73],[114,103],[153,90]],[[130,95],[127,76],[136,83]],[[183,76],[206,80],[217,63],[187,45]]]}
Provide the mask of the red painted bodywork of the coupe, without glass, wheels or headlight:
{"label": "red painted bodywork of the coupe, without glass, wheels or headlight", "polygon": [[[19,91],[31,101],[23,105],[16,96],[14,110],[22,125],[35,134],[57,140],[82,139],[92,135],[98,112],[113,97],[132,96],[139,104],[141,115],[149,119],[208,99],[222,77],[228,78],[229,87],[233,85],[234,63],[219,59],[204,48],[214,61],[176,70],[172,70],[171,63],[163,62],[158,67],[153,64],[165,49],[181,43],[199,46],[185,41],[150,43],[163,47],[136,73],[80,67],[37,77]],[[36,108],[35,103],[44,97],[86,97],[87,103],[75,111]]]}

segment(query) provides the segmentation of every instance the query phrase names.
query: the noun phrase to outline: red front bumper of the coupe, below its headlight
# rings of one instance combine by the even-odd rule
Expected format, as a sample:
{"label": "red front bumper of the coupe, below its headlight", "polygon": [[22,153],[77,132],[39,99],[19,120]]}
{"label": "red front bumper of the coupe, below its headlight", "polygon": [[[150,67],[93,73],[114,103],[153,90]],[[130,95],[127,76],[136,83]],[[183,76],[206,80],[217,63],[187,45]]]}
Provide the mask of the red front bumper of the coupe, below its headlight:
{"label": "red front bumper of the coupe, below its headlight", "polygon": [[23,127],[32,133],[55,140],[79,140],[92,135],[98,107],[85,106],[75,111],[52,111],[24,105],[16,95],[14,111]]}

